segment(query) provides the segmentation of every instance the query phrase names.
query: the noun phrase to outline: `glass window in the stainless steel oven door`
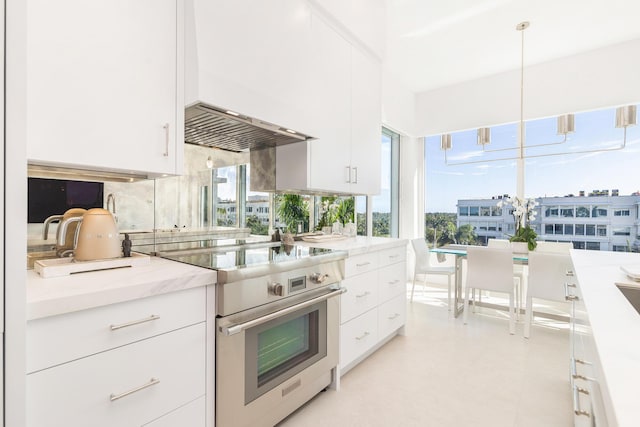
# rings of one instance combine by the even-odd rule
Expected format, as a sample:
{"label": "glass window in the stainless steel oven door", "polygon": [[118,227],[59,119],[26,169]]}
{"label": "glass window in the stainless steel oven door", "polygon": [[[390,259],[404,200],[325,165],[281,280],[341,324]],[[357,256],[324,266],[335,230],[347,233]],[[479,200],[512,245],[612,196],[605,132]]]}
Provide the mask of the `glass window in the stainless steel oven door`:
{"label": "glass window in the stainless steel oven door", "polygon": [[245,331],[245,404],[327,356],[327,302]]}

